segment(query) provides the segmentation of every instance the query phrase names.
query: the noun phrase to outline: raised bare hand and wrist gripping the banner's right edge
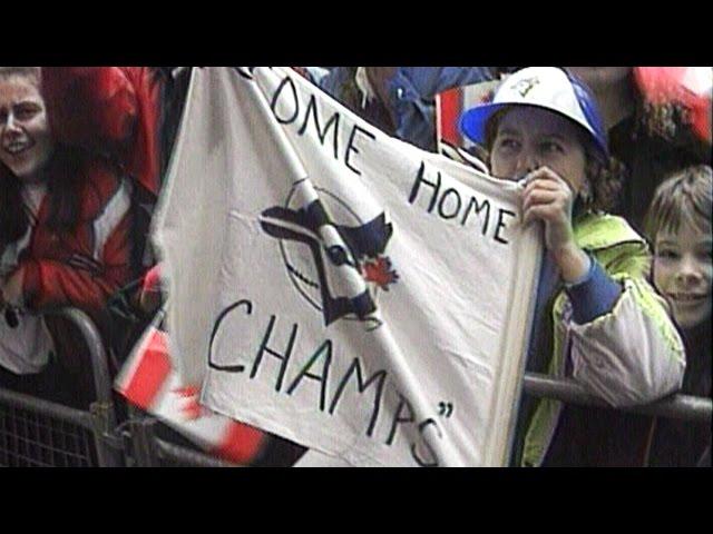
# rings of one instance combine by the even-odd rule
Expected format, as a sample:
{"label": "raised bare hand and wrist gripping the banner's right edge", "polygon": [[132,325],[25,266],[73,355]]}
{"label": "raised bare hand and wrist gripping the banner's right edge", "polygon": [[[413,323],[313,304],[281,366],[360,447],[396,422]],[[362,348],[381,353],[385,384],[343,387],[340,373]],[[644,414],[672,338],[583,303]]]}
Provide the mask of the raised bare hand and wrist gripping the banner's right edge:
{"label": "raised bare hand and wrist gripping the banner's right edge", "polygon": [[522,221],[545,222],[545,246],[561,271],[565,281],[584,277],[589,270],[589,257],[575,243],[572,210],[575,191],[547,167],[530,172],[522,192]]}

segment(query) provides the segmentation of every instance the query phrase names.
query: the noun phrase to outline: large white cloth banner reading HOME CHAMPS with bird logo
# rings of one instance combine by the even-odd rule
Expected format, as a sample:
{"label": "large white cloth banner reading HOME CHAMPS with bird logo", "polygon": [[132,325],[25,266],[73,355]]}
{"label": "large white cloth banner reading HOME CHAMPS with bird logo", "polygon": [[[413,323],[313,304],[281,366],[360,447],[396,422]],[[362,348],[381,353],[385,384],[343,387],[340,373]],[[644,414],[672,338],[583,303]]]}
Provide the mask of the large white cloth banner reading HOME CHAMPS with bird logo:
{"label": "large white cloth banner reading HOME CHAMPS with bird logo", "polygon": [[194,70],[155,234],[202,402],[348,465],[504,465],[541,253],[518,186],[291,69]]}

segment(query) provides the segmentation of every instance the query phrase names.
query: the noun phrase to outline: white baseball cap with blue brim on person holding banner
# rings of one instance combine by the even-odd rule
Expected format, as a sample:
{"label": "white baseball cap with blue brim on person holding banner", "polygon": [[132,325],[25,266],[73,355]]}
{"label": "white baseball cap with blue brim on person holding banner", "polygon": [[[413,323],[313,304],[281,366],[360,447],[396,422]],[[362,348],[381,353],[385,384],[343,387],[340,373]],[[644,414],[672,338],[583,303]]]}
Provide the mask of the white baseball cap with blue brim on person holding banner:
{"label": "white baseball cap with blue brim on person holding banner", "polygon": [[470,140],[484,145],[488,120],[508,106],[535,106],[567,117],[592,136],[604,161],[608,159],[606,130],[594,96],[582,80],[563,69],[528,67],[512,73],[502,81],[491,102],[462,115],[461,131]]}

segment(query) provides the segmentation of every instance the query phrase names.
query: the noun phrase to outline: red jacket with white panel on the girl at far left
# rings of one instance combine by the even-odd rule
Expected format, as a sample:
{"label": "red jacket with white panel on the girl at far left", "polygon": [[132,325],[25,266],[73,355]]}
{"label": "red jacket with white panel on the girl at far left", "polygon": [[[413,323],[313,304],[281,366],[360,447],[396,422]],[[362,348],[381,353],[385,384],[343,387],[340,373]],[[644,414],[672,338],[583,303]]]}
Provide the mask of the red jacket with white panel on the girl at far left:
{"label": "red jacket with white panel on the girl at far left", "polygon": [[29,206],[28,235],[11,246],[23,271],[23,305],[30,309],[74,306],[94,316],[131,278],[131,182],[100,159],[85,162],[82,174],[74,231],[50,228],[50,201],[42,194]]}

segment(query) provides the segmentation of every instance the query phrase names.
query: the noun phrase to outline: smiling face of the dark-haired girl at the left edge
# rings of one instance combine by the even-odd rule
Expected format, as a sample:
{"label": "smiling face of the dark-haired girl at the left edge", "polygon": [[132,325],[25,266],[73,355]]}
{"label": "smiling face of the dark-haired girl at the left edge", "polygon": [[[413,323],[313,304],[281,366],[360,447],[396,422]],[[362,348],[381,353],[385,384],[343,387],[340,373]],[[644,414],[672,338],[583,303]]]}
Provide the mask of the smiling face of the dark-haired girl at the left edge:
{"label": "smiling face of the dark-haired girl at the left edge", "polygon": [[0,161],[36,180],[52,154],[45,100],[31,77],[0,78]]}

